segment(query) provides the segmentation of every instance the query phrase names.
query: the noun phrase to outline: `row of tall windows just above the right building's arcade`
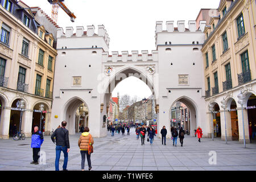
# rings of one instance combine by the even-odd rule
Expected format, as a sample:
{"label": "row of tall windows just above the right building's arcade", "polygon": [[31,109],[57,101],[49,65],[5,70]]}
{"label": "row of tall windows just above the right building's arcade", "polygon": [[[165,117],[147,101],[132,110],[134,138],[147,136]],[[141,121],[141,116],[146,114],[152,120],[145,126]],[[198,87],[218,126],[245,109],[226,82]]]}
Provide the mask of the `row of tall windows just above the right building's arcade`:
{"label": "row of tall windows just above the right building's arcade", "polygon": [[[242,74],[250,71],[250,64],[249,64],[249,56],[248,51],[243,52],[241,55],[241,64],[242,64]],[[225,72],[226,72],[226,81],[229,82],[232,88],[232,77],[231,77],[231,68],[230,63],[225,65]],[[218,90],[218,73],[213,73],[214,77],[214,87]],[[208,91],[210,90],[210,77],[207,77],[207,84],[208,84]]]}

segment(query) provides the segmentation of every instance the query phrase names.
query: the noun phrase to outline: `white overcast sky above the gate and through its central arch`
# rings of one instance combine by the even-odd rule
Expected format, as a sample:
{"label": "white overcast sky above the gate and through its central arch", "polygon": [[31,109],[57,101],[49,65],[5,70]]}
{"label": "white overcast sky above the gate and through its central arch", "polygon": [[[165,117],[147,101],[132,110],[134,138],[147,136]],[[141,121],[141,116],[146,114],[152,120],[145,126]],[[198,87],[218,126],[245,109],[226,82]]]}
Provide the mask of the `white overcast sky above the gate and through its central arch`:
{"label": "white overcast sky above the gate and through its central arch", "polygon": [[[39,6],[45,13],[51,16],[51,5],[47,0],[22,0],[28,6]],[[200,9],[217,9],[220,0],[65,0],[65,5],[76,15],[75,22],[71,22],[67,14],[59,9],[57,24],[60,27],[104,24],[110,38],[109,54],[111,51],[139,51],[155,50],[155,22],[174,20],[196,20]],[[144,98],[152,93],[146,84],[136,78],[127,78],[118,84],[113,91],[113,96],[119,92],[120,95],[130,93],[134,96]],[[135,90],[135,91],[134,91]],[[144,96],[143,96],[144,95]]]}

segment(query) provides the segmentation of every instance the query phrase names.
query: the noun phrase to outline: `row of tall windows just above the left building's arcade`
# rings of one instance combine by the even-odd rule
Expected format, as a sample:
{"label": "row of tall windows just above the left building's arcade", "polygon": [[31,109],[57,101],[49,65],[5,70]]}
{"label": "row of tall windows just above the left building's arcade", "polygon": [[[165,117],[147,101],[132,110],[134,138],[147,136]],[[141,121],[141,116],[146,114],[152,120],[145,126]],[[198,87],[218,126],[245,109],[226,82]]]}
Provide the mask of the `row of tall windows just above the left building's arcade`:
{"label": "row of tall windows just above the left building's arcade", "polygon": [[[6,60],[2,59],[0,57],[0,78],[3,78],[5,76],[5,67],[6,67]],[[3,79],[1,79],[1,80],[3,80]],[[24,92],[25,80],[26,80],[26,68],[19,67],[17,90]],[[42,89],[41,89],[41,81],[42,81],[42,76],[36,74],[36,84],[35,84],[35,95],[36,96],[43,96]],[[0,82],[0,86],[3,86],[2,81]],[[45,94],[45,96],[47,98],[51,97],[50,86],[51,86],[51,80],[47,79],[46,80],[46,94]]]}

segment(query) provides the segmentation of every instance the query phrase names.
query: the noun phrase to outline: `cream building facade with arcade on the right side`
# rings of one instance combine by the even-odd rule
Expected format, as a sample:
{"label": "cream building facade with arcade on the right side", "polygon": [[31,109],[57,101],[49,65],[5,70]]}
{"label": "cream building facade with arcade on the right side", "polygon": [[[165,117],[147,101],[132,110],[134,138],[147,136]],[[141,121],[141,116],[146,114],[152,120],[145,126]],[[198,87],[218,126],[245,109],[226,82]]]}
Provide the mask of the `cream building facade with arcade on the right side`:
{"label": "cream building facade with arcade on the right side", "polygon": [[[209,130],[216,137],[249,142],[249,125],[255,125],[255,1],[220,1],[218,14],[205,26],[204,57],[205,102],[214,105],[207,111]],[[245,94],[245,109],[238,104],[238,94]],[[223,109],[221,101],[226,101]],[[225,127],[226,121],[226,127]],[[218,131],[218,132],[217,132]],[[210,137],[210,136],[209,136]]]}

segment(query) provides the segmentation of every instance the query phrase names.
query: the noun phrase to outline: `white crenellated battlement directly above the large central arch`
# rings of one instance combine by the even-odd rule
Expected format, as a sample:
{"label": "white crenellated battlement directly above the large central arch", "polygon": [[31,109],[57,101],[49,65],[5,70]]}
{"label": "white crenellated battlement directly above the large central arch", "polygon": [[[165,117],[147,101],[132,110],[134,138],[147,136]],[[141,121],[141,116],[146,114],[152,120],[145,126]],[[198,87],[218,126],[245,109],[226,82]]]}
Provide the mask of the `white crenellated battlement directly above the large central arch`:
{"label": "white crenellated battlement directly above the large central arch", "polygon": [[141,51],[141,54],[139,51],[131,51],[131,54],[128,51],[121,51],[121,55],[118,51],[112,51],[112,55],[109,55],[109,52],[102,52],[102,63],[129,61],[158,61],[158,51],[151,51],[151,54],[148,54],[148,51]]}

